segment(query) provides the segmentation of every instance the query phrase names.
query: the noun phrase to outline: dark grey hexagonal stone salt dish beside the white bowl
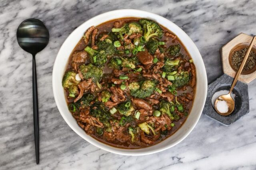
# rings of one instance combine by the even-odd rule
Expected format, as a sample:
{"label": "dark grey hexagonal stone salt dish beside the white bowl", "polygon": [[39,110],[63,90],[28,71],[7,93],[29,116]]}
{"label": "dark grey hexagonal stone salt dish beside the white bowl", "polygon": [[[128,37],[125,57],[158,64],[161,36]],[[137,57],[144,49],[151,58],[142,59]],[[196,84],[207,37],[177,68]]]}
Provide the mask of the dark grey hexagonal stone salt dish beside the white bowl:
{"label": "dark grey hexagonal stone salt dish beside the white bowl", "polygon": [[223,74],[208,85],[207,97],[203,110],[204,115],[207,115],[208,117],[211,117],[212,119],[215,119],[226,126],[234,123],[249,112],[248,85],[242,83],[241,81],[237,81],[233,90],[233,93],[236,95],[235,109],[233,113],[228,116],[222,116],[215,111],[214,107],[212,107],[212,96],[214,93],[220,90],[229,91],[233,79],[233,77]]}

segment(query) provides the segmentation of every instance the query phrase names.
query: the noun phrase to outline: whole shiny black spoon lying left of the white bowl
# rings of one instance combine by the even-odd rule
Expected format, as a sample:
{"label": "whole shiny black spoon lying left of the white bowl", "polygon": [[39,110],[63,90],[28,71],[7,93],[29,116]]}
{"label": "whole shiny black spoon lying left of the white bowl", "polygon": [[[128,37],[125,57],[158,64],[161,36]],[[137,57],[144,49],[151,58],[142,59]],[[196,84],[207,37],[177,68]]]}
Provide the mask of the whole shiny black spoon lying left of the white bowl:
{"label": "whole shiny black spoon lying left of the white bowl", "polygon": [[38,19],[23,21],[17,29],[18,44],[22,49],[33,56],[33,115],[34,136],[36,147],[36,164],[39,164],[39,122],[38,122],[38,99],[36,82],[36,53],[46,47],[49,42],[49,32],[44,23]]}

